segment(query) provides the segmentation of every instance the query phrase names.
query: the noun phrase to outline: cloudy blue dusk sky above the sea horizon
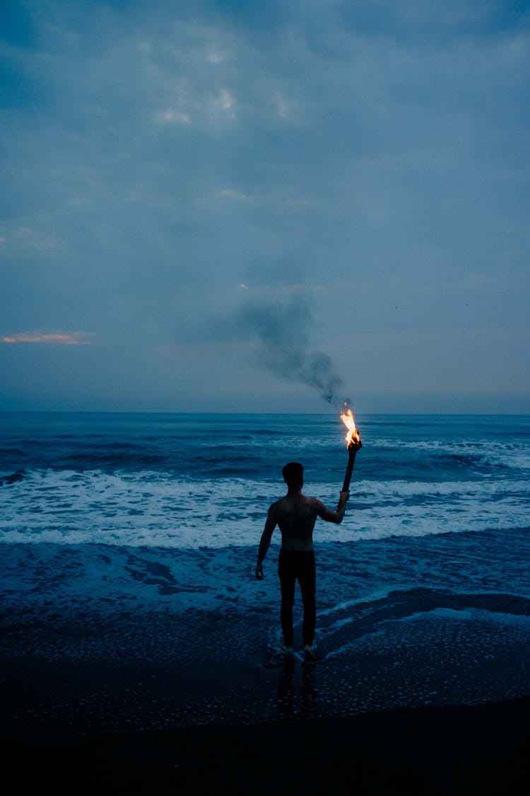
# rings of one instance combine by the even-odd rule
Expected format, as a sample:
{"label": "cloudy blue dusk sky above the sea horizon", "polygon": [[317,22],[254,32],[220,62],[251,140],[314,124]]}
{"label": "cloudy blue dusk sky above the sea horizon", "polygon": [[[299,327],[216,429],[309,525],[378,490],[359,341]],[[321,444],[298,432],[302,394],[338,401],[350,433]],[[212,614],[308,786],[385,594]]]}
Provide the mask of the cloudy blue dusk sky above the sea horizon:
{"label": "cloudy blue dusk sky above the sea horizon", "polygon": [[530,2],[2,0],[0,410],[530,412]]}

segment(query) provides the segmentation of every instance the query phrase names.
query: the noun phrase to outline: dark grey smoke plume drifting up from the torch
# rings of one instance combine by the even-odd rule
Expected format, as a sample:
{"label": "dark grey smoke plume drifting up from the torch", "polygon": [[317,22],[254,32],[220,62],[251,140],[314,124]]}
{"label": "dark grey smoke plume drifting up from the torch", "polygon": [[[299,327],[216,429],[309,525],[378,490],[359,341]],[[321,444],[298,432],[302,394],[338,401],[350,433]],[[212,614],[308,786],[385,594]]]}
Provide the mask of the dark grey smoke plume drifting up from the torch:
{"label": "dark grey smoke plume drifting up from the torch", "polygon": [[263,365],[284,379],[319,390],[329,404],[339,401],[342,379],[327,353],[311,345],[311,308],[297,300],[289,304],[249,303],[240,316],[247,334],[257,339]]}

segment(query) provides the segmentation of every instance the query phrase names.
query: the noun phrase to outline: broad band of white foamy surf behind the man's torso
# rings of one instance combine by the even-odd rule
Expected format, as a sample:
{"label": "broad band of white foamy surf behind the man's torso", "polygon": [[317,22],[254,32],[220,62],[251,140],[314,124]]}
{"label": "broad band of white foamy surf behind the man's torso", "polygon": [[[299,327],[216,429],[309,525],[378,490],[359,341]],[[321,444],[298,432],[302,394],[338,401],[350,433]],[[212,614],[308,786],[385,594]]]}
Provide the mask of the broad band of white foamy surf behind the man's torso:
{"label": "broad band of white foamy surf behind the man's torso", "polygon": [[[142,471],[30,470],[2,487],[0,540],[103,542],[172,548],[255,545],[276,483],[200,480]],[[309,494],[335,506],[338,490]],[[420,537],[528,525],[528,481],[355,482],[342,525],[319,521],[315,540]],[[279,533],[273,537],[279,541]]]}

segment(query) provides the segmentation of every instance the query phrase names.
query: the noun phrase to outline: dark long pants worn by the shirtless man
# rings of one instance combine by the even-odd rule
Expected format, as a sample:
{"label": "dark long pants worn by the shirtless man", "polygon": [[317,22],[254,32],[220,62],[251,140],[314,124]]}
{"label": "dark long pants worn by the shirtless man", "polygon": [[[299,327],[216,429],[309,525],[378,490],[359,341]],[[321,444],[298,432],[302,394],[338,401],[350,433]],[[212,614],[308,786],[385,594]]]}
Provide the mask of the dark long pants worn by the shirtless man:
{"label": "dark long pants worn by the shirtless man", "polygon": [[280,549],[278,575],[281,587],[281,629],[284,634],[285,646],[293,646],[292,607],[295,602],[296,581],[300,583],[302,602],[304,603],[304,624],[302,637],[304,646],[311,646],[315,638],[316,622],[316,572],[315,553],[311,551]]}

